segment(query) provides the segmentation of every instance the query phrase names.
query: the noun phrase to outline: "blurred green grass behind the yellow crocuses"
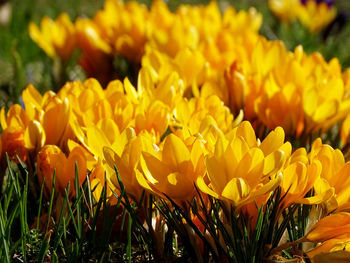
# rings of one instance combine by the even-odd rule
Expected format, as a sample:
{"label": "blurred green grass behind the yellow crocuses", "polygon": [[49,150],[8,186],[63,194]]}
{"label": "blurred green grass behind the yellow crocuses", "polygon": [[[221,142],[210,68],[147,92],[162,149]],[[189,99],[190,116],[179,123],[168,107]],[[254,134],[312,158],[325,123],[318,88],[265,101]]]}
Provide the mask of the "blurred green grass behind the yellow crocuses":
{"label": "blurred green grass behind the yellow crocuses", "polygon": [[[146,5],[151,0],[140,0]],[[207,4],[209,1],[166,1],[171,10],[182,3]],[[302,44],[308,53],[319,51],[327,60],[338,57],[343,68],[350,66],[350,1],[336,0],[337,17],[321,32],[311,34],[299,22],[284,24],[269,10],[267,0],[222,0],[221,9],[228,5],[237,10],[254,6],[263,14],[260,33],[268,39],[281,39],[288,49]],[[53,19],[67,12],[76,17],[92,17],[103,7],[104,0],[0,0],[0,107],[20,102],[21,92],[32,83],[41,92],[57,89],[52,73],[52,60],[36,45],[28,33],[31,21],[40,24],[44,15]],[[71,68],[70,79],[86,78],[77,65]]]}

